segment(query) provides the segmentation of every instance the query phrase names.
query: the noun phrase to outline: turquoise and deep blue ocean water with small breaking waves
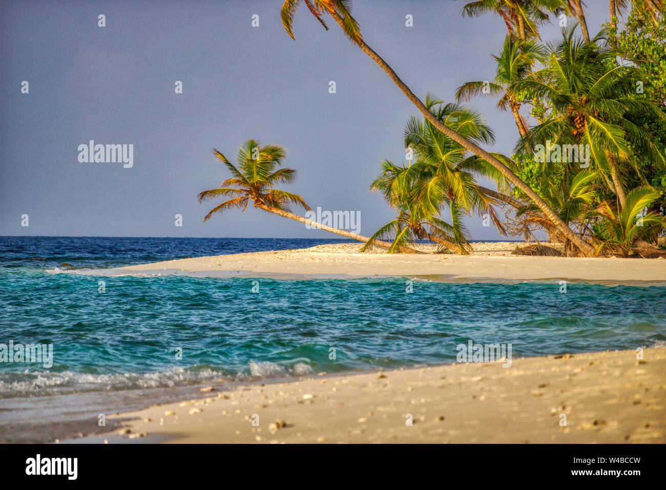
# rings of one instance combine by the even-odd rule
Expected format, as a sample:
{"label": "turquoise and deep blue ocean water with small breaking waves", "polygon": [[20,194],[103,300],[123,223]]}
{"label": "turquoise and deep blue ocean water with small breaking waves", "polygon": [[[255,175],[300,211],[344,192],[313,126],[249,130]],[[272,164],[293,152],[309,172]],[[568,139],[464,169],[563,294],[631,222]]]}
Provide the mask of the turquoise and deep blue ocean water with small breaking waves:
{"label": "turquoise and deep blue ocean water with small breaking waves", "polygon": [[[334,242],[348,240],[0,237],[0,441],[99,430],[99,413],[200,383],[456,362],[470,341],[514,358],[666,341],[665,286],[78,274]],[[51,346],[51,365],[9,362],[10,342]]]}

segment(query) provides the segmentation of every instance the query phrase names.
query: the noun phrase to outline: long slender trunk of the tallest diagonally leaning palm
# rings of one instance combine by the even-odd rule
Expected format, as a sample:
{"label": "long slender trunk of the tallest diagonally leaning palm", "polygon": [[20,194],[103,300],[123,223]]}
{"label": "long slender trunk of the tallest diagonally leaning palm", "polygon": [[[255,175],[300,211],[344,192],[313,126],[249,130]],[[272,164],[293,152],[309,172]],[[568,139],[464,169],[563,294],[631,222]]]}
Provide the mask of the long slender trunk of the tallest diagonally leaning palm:
{"label": "long slender trunk of the tallest diagonally leaning palm", "polygon": [[[335,21],[342,27],[344,30],[344,21],[342,20],[342,17],[336,13],[334,10],[328,10],[328,13],[330,13],[331,17],[335,19]],[[567,225],[564,224],[564,222],[559,219],[559,216],[553,212],[553,210],[545,203],[543,199],[541,199],[536,192],[534,192],[531,187],[529,187],[525,182],[523,182],[516,174],[511,172],[511,169],[507,167],[505,164],[500,162],[497,158],[492,156],[492,154],[488,153],[486,150],[481,148],[480,146],[477,146],[470,140],[464,138],[458,132],[454,131],[453,129],[449,128],[448,126],[445,126],[442,124],[441,121],[439,121],[422,103],[422,101],[414,95],[414,93],[410,90],[405,83],[400,80],[400,77],[396,75],[396,72],[393,71],[393,69],[378,55],[375,53],[370,46],[368,46],[365,41],[362,39],[357,39],[356,43],[358,44],[358,47],[362,49],[366,55],[368,55],[370,58],[372,58],[375,63],[377,63],[384,72],[386,72],[386,75],[390,77],[390,79],[398,85],[402,93],[407,96],[410,101],[416,106],[416,108],[428,119],[428,121],[432,122],[432,124],[438,128],[441,132],[446,134],[446,136],[449,136],[452,140],[460,143],[464,148],[467,148],[474,154],[477,154],[484,160],[486,160],[488,163],[490,163],[492,166],[500,170],[500,172],[506,176],[511,182],[513,182],[513,185],[515,185],[517,188],[525,192],[527,196],[536,204],[539,206],[543,214],[547,216],[551,222],[557,227],[558,230],[561,231],[561,233],[569,238],[573,243],[576,244],[576,246],[585,254],[586,256],[593,256],[594,254],[594,247],[588,244],[587,242],[583,241],[577,234],[571,230]]]}

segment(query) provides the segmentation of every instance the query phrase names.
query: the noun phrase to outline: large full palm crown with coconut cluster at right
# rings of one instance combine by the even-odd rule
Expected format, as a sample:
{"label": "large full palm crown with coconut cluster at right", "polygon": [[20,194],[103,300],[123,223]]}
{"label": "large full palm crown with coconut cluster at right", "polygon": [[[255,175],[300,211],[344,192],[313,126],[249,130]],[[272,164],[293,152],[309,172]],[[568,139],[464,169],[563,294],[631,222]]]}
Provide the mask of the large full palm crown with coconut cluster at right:
{"label": "large full palm crown with coconut cluster at right", "polygon": [[516,150],[529,153],[533,142],[548,140],[561,145],[587,144],[595,170],[623,207],[627,198],[619,165],[631,160],[634,149],[665,162],[637,118],[647,114],[659,121],[663,114],[646,99],[635,97],[634,83],[642,79],[641,71],[618,66],[613,51],[599,48],[603,31],[590,42],[573,37],[574,27],[562,33],[563,40],[550,46],[545,67],[513,86],[533,91],[553,106],[549,120],[530,128]]}

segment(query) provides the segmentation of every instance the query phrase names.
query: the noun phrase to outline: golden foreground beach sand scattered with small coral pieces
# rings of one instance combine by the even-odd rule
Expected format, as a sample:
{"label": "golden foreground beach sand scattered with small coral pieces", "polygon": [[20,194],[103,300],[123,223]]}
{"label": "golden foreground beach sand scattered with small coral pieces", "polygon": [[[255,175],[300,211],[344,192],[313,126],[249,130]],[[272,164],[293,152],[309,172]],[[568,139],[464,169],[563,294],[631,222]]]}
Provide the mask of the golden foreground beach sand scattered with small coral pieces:
{"label": "golden foreground beach sand scattered with small coral pieces", "polygon": [[643,360],[597,352],[212,388],[119,415],[123,435],[81,441],[666,442],[665,348]]}

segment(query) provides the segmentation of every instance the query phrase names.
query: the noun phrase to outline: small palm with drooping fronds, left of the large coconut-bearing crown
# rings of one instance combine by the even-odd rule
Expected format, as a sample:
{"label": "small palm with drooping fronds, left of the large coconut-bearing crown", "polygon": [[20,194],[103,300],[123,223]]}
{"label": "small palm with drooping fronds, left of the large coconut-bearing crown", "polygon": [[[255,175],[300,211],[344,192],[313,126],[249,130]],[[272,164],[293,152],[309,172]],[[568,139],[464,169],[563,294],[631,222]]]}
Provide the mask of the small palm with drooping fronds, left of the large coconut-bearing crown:
{"label": "small palm with drooping fronds, left of the large coconut-bearing crown", "polygon": [[519,91],[514,91],[512,87],[531,73],[531,67],[542,55],[543,49],[533,41],[514,41],[511,36],[507,35],[500,55],[493,55],[497,64],[494,81],[492,83],[488,81],[464,83],[456,91],[456,101],[468,102],[471,97],[480,94],[498,95],[501,93],[498,108],[502,111],[506,111],[507,107],[511,109],[520,136],[525,136],[527,125],[519,113],[523,95]]}

